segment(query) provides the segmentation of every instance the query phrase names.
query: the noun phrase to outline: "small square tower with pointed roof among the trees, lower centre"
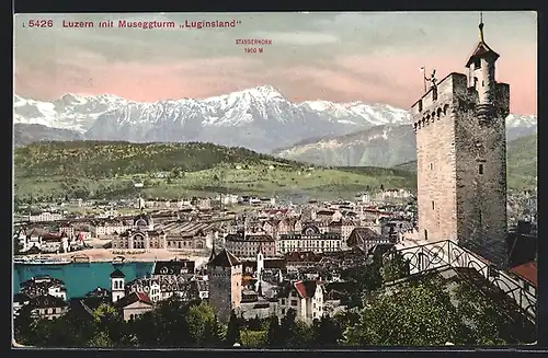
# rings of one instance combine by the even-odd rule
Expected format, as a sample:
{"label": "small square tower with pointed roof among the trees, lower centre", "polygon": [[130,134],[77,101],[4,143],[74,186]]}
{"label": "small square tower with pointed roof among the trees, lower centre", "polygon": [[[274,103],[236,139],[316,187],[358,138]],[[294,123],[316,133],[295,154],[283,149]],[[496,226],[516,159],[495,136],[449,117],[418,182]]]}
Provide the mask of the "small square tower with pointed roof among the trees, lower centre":
{"label": "small square tower with pointed roof among the trees, lower centre", "polygon": [[240,261],[226,250],[207,263],[209,302],[221,322],[228,322],[231,310],[240,309],[242,274]]}

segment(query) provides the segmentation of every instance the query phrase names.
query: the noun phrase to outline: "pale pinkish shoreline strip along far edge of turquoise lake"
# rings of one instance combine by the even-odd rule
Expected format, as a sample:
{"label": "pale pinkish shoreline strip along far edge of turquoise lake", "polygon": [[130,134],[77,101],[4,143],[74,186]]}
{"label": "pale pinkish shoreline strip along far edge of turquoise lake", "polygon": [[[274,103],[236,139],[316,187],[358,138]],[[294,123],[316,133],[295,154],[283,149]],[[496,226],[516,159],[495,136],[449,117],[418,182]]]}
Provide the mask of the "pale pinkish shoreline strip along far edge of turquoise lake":
{"label": "pale pinkish shoreline strip along far edge of turquoise lake", "polygon": [[[125,264],[125,263],[153,263],[157,261],[175,261],[175,259],[190,259],[194,261],[196,263],[196,267],[202,266],[205,264],[208,259],[208,255],[199,255],[198,253],[184,253],[184,252],[173,252],[173,251],[168,251],[165,249],[151,249],[147,252],[142,253],[135,253],[135,252],[128,252],[128,253],[123,253],[116,251],[114,253],[111,249],[88,249],[88,250],[80,250],[80,251],[73,251],[73,252],[68,252],[68,253],[61,253],[61,254],[39,254],[39,255],[24,255],[26,257],[35,258],[35,257],[43,257],[43,258],[69,258],[72,259],[72,263],[76,264],[87,264],[87,263],[112,263],[114,258],[116,257],[124,257],[124,261],[119,262],[119,264]],[[81,262],[75,262],[73,257],[82,256]],[[89,258],[85,259],[85,258]],[[24,264],[23,264],[24,265]],[[48,264],[44,264],[48,265]],[[53,264],[55,265],[55,264]]]}

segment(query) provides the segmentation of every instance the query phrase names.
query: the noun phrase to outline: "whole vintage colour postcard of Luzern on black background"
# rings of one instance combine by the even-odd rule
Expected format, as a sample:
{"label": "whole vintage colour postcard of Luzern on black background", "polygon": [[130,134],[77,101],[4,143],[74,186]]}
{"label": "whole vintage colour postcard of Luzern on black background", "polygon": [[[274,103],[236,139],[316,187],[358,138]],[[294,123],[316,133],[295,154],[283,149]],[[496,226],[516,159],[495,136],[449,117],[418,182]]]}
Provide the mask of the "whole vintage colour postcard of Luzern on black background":
{"label": "whole vintage colour postcard of Luzern on black background", "polygon": [[530,345],[535,12],[14,16],[13,347]]}

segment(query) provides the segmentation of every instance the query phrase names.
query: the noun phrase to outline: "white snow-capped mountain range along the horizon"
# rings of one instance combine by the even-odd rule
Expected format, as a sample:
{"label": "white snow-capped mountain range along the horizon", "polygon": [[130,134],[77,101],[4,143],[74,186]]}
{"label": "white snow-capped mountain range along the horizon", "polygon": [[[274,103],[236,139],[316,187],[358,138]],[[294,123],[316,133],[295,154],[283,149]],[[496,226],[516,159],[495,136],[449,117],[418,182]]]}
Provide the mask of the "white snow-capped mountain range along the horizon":
{"label": "white snow-capped mountain range along the horizon", "polygon": [[[41,138],[39,130],[36,131],[36,125],[39,125],[47,128],[47,132],[52,129],[71,130],[84,139],[206,141],[260,152],[271,152],[309,138],[410,123],[407,111],[387,104],[293,103],[270,85],[205,100],[155,103],[128,101],[110,94],[66,94],[53,102],[15,95],[13,105],[14,123],[20,129],[34,125],[35,140],[50,139],[49,135]],[[511,115],[507,123],[512,127],[530,127],[536,126],[536,118]]]}

